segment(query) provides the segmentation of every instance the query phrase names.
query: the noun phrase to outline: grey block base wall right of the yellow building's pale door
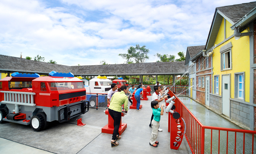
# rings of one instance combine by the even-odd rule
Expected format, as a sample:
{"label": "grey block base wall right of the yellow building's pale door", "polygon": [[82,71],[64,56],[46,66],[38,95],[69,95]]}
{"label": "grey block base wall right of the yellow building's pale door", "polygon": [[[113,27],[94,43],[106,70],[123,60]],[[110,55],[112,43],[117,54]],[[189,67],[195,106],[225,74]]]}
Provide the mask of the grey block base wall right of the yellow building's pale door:
{"label": "grey block base wall right of the yellow building's pale door", "polygon": [[230,100],[230,119],[250,129],[250,106]]}

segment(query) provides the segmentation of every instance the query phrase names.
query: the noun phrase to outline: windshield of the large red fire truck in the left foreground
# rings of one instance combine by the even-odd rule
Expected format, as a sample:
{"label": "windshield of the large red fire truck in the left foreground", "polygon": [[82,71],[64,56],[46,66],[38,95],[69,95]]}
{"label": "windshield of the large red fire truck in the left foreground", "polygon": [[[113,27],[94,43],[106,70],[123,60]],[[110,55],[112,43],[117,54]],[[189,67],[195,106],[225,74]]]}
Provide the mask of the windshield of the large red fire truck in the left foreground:
{"label": "windshield of the large red fire truck in the left foreground", "polygon": [[49,82],[48,84],[52,91],[84,88],[83,82]]}

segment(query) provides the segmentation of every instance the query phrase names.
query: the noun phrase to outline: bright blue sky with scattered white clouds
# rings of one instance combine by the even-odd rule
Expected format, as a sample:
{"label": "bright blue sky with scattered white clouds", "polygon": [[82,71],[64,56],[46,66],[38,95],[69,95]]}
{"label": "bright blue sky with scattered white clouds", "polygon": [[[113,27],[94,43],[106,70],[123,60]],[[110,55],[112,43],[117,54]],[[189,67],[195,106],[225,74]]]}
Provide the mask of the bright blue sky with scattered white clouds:
{"label": "bright blue sky with scattered white clouds", "polygon": [[123,64],[118,54],[139,44],[149,49],[146,63],[159,60],[156,53],[179,58],[206,44],[216,7],[234,4],[241,0],[1,0],[0,54]]}

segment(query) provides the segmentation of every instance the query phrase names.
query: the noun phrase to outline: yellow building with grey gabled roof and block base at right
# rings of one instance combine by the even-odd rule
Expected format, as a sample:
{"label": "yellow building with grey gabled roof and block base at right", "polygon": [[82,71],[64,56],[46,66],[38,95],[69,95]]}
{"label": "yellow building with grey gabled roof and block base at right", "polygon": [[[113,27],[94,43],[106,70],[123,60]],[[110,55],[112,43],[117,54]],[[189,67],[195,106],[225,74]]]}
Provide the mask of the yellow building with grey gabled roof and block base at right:
{"label": "yellow building with grey gabled roof and block base at right", "polygon": [[210,108],[254,130],[256,2],[216,8],[205,46],[212,56]]}

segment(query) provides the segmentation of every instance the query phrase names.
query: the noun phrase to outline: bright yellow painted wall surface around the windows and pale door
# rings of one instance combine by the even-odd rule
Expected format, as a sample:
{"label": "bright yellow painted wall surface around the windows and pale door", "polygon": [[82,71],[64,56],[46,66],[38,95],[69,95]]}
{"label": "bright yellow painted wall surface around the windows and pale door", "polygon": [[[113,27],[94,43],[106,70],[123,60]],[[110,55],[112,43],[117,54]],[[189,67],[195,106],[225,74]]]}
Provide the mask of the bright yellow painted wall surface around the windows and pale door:
{"label": "bright yellow painted wall surface around the windows and pale door", "polygon": [[[226,21],[226,25],[231,25],[228,21]],[[224,22],[222,22],[221,28],[224,27]],[[223,34],[220,34],[223,32]],[[248,32],[245,29],[243,32]],[[220,34],[220,36],[219,36]],[[220,29],[219,34],[217,36],[215,44],[217,44],[221,37],[224,36],[224,31]],[[227,28],[226,34],[230,35],[230,28]],[[224,38],[224,37],[223,37]],[[232,69],[221,71],[221,54],[220,48],[231,42],[233,47],[231,48],[232,54]],[[249,102],[249,89],[250,89],[250,49],[249,49],[249,36],[241,37],[239,40],[235,40],[234,37],[223,43],[222,45],[216,47],[213,53],[213,75],[219,75],[219,95],[222,93],[222,74],[231,74],[230,76],[230,95],[231,98],[234,98],[234,73],[237,72],[245,72],[245,101]],[[212,79],[214,81],[214,78]],[[213,84],[214,88],[214,84]]]}

